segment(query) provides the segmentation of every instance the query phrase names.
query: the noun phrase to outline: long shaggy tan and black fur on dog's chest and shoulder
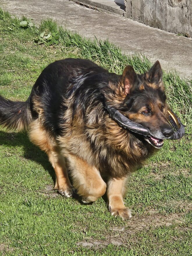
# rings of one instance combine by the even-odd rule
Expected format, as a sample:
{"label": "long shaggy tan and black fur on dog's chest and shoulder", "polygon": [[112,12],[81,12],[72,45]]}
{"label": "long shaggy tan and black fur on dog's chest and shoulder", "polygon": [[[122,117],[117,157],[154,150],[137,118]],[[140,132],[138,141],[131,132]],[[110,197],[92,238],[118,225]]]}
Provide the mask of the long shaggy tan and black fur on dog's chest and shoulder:
{"label": "long shaggy tan and black fur on dog's chest and shoulder", "polygon": [[76,155],[96,166],[103,176],[125,177],[142,166],[154,148],[120,127],[103,111],[96,122],[93,111],[88,112],[90,118],[85,118],[81,111],[72,118],[69,107],[60,145],[66,156]]}

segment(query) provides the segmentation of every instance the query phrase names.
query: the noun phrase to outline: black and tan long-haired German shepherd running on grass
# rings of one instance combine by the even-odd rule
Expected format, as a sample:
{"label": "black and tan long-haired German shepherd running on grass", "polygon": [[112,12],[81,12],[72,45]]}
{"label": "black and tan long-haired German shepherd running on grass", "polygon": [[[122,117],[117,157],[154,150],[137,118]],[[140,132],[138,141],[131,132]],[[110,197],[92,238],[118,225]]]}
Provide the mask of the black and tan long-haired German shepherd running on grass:
{"label": "black and tan long-haired German shepherd running on grass", "polygon": [[[152,136],[120,127],[106,104]],[[127,178],[173,134],[168,109],[159,61],[145,74],[128,65],[118,75],[92,61],[68,58],[42,71],[26,102],[0,96],[0,124],[26,129],[31,142],[47,153],[56,174],[54,189],[61,195],[70,197],[75,188],[89,203],[106,193],[110,213],[127,219]]]}

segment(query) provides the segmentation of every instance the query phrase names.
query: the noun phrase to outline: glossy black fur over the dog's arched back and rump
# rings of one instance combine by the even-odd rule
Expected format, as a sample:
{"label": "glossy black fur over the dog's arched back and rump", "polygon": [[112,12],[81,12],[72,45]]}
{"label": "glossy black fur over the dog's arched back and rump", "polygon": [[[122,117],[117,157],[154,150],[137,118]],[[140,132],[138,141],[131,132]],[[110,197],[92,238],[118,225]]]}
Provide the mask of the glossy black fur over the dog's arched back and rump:
{"label": "glossy black fur over the dog's arched back and rump", "polygon": [[[71,85],[70,92],[75,90],[76,79],[86,78],[88,74],[108,72],[89,60],[72,59],[55,61],[48,65],[35,82],[30,95],[32,117],[43,113],[45,127],[54,134],[61,135],[61,124],[66,106],[62,103]],[[83,85],[82,85],[83,86]]]}

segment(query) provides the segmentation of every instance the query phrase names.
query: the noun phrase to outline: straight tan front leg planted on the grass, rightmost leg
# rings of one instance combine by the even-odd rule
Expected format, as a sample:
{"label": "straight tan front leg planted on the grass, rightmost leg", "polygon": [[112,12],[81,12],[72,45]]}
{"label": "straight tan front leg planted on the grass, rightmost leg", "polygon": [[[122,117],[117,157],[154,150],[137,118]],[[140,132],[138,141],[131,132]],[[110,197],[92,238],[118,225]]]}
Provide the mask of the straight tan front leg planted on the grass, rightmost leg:
{"label": "straight tan front leg planted on the grass, rightmost leg", "polygon": [[107,183],[107,198],[109,211],[113,216],[121,216],[124,220],[131,218],[131,210],[125,207],[123,194],[125,193],[127,177],[121,179],[110,178]]}

